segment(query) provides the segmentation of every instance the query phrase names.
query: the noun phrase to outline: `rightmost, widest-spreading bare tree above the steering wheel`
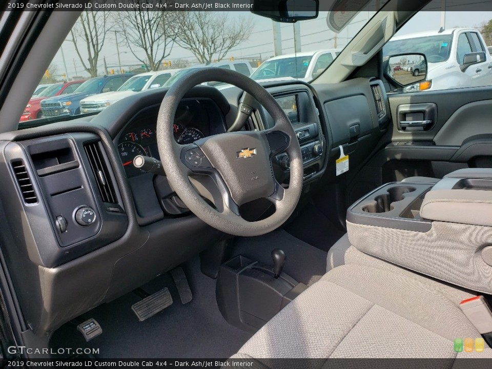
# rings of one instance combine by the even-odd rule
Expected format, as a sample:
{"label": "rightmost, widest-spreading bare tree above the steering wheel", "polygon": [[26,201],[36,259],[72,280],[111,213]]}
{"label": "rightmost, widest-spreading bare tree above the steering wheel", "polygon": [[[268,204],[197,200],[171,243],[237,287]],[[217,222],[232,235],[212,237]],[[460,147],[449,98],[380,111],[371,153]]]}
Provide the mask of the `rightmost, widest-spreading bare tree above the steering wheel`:
{"label": "rightmost, widest-spreading bare tree above the steering wheel", "polygon": [[253,30],[251,19],[232,19],[228,13],[211,11],[174,12],[176,43],[190,50],[200,63],[221,60],[247,40]]}

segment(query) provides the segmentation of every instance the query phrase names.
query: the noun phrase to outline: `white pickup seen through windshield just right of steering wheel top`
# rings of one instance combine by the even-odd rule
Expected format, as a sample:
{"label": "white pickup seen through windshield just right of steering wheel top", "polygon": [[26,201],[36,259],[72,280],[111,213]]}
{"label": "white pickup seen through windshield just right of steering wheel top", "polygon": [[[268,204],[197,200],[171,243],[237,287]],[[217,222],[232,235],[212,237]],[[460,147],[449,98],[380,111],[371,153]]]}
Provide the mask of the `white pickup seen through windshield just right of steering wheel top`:
{"label": "white pickup seen through windshield just right of steering wheel top", "polygon": [[251,75],[254,80],[299,79],[304,82],[320,75],[340,53],[340,49],[286,54],[270,58]]}

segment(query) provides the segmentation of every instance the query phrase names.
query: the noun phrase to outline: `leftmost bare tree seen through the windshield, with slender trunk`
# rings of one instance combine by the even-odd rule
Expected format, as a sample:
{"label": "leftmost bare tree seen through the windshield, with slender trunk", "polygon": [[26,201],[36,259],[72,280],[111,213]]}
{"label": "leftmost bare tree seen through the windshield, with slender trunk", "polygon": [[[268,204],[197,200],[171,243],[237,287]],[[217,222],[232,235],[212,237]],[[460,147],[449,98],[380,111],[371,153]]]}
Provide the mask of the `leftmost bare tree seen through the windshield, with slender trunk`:
{"label": "leftmost bare tree seen through the windshield, with slender trunk", "polygon": [[[110,24],[110,12],[84,10],[75,26],[70,31],[70,41],[82,63],[82,66],[91,77],[97,76],[97,61],[99,53],[103,49],[107,33],[112,28]],[[87,59],[80,52],[79,39],[83,39],[87,48]],[[84,43],[82,43],[84,45]],[[87,60],[87,62],[86,62]]]}

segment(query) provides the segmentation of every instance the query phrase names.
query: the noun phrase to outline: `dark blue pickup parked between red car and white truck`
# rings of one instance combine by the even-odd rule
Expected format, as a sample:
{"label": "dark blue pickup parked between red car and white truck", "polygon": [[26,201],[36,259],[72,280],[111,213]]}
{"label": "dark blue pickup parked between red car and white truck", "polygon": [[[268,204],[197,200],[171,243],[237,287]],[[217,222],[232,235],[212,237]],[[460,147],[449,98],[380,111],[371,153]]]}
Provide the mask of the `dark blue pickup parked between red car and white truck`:
{"label": "dark blue pickup parked between red car and white truck", "polygon": [[80,100],[103,92],[116,91],[134,74],[118,74],[86,80],[73,93],[53,96],[41,101],[43,117],[80,114]]}

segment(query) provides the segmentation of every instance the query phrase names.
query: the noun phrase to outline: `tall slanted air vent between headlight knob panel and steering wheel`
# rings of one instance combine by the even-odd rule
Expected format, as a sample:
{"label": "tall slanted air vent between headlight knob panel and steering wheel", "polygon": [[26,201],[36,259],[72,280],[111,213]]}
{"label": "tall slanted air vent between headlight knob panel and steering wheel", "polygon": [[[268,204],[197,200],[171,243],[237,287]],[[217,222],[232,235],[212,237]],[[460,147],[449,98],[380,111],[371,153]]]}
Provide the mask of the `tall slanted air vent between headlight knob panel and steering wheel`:
{"label": "tall slanted air vent between headlight knob panel and steering wheel", "polygon": [[99,141],[84,145],[84,149],[103,202],[118,203],[108,165],[101,152]]}

